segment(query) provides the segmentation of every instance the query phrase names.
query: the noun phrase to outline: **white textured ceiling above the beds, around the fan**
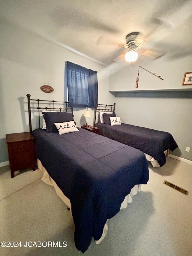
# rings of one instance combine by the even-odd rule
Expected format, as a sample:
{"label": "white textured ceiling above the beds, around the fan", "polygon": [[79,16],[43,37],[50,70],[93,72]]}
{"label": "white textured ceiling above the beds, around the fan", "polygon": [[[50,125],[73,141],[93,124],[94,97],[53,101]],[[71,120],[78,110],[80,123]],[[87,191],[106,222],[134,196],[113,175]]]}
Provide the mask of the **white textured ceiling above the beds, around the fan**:
{"label": "white textured ceiling above the beds, around the fan", "polygon": [[134,31],[169,58],[192,54],[191,10],[182,0],[0,0],[1,20],[105,64]]}

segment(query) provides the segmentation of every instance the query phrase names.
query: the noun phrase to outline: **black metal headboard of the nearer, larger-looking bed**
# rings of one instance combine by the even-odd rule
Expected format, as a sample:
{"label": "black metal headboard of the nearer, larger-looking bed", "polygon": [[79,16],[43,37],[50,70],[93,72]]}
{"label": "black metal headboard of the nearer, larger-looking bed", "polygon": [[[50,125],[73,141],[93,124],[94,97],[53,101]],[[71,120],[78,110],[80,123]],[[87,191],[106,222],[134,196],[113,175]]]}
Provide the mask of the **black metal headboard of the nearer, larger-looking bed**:
{"label": "black metal headboard of the nearer, larger-looking bed", "polygon": [[[61,110],[63,110],[64,112],[67,112],[67,110],[71,110],[71,113],[73,114],[73,107],[68,107],[68,101],[47,101],[47,100],[39,100],[39,99],[35,99],[34,100],[34,99],[31,99],[30,97],[31,97],[31,95],[27,94],[30,133],[32,133],[32,121],[31,121],[31,110],[32,109],[38,110],[38,114],[39,114],[39,128],[40,128],[40,109],[44,109],[44,110],[49,110],[50,109],[50,110],[53,110],[53,111],[55,111],[55,109],[58,109],[58,110],[60,110],[60,112],[61,112]],[[31,101],[37,101],[38,102],[38,107],[31,107]],[[49,107],[44,107],[44,106],[40,107],[40,104],[45,103],[45,102],[47,102],[47,104],[49,102]],[[63,104],[64,107],[63,108],[55,107],[55,102]],[[53,104],[53,107],[50,107],[50,104]]]}

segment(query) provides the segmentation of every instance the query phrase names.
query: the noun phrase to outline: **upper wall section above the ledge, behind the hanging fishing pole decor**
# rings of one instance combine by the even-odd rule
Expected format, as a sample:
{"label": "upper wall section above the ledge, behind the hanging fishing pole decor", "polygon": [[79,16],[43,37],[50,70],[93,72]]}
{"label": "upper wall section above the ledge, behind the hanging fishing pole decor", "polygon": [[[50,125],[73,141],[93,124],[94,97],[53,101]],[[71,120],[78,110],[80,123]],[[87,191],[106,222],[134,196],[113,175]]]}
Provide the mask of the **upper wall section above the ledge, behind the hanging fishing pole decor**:
{"label": "upper wall section above the ledge, behind the hanging fishing pole decor", "polygon": [[[192,55],[182,59],[167,59],[166,55],[155,61],[149,61],[142,55],[136,62],[124,62],[124,66],[111,69],[110,76],[110,92],[116,91],[158,91],[158,90],[192,90],[192,85],[183,86],[183,78],[185,72],[191,72]],[[140,68],[139,72],[139,87],[136,89],[136,77],[138,74],[139,66],[156,73],[164,80],[155,77],[148,71]],[[117,69],[119,68],[118,72]]]}

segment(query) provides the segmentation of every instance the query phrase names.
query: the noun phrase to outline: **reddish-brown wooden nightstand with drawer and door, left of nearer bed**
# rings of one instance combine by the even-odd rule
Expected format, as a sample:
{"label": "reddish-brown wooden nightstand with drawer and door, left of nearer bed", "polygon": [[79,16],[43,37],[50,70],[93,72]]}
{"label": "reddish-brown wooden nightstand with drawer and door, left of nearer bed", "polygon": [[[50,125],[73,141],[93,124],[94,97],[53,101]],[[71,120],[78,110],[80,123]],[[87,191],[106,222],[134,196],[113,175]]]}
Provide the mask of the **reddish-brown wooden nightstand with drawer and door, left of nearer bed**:
{"label": "reddish-brown wooden nightstand with drawer and door, left of nearer bed", "polygon": [[30,132],[6,134],[11,178],[15,171],[32,168],[35,171],[35,153],[33,136]]}

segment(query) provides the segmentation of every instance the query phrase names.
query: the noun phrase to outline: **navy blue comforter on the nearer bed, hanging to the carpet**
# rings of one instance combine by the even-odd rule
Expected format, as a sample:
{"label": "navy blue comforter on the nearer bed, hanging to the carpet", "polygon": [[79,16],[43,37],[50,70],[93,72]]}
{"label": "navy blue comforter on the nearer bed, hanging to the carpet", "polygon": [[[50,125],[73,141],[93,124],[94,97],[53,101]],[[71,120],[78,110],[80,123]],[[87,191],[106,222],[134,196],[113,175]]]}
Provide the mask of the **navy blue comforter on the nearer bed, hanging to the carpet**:
{"label": "navy blue comforter on the nearer bed, hanging to the carpet", "polygon": [[70,199],[76,248],[85,252],[101,238],[108,218],[119,212],[136,184],[146,184],[149,169],[143,152],[79,128],[59,135],[32,132],[35,152],[58,187]]}

